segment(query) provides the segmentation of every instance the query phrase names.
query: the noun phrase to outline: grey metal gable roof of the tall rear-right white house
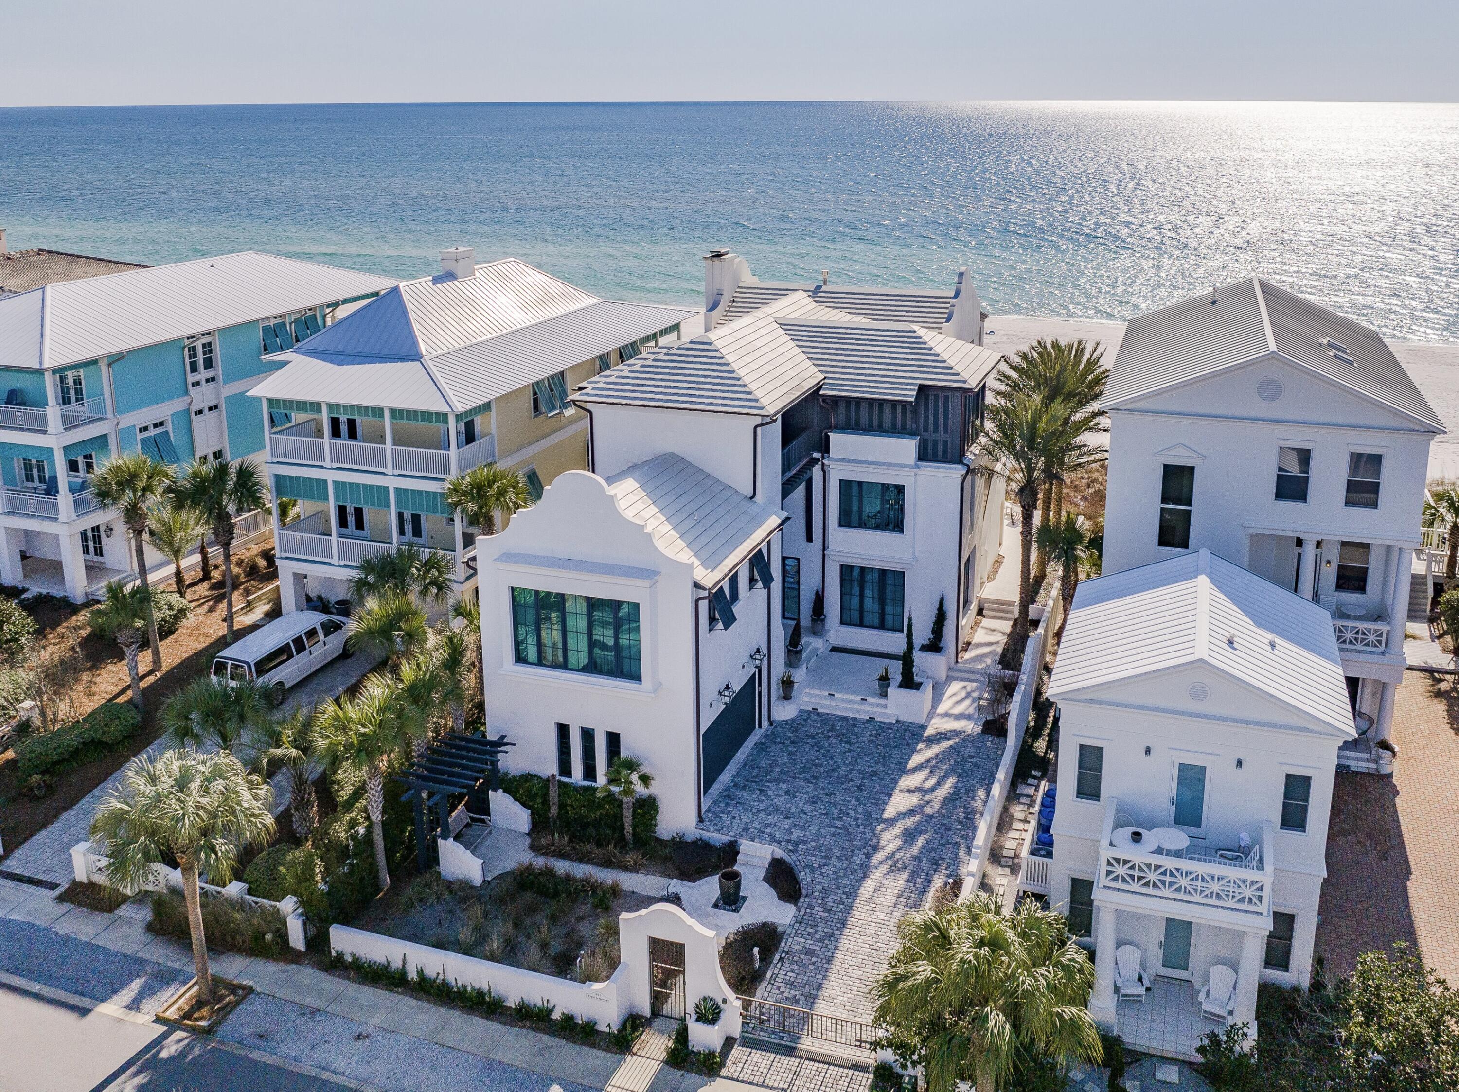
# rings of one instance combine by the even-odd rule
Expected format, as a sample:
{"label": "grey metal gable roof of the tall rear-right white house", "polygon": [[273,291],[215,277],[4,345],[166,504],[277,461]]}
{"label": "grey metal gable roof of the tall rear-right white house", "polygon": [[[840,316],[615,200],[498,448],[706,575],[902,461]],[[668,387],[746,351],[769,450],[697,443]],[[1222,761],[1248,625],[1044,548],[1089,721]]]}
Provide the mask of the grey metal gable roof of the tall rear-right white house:
{"label": "grey metal gable roof of the tall rear-right white house", "polygon": [[1444,432],[1439,414],[1377,331],[1261,277],[1132,318],[1110,367],[1104,407],[1268,354],[1310,367],[1427,430]]}

